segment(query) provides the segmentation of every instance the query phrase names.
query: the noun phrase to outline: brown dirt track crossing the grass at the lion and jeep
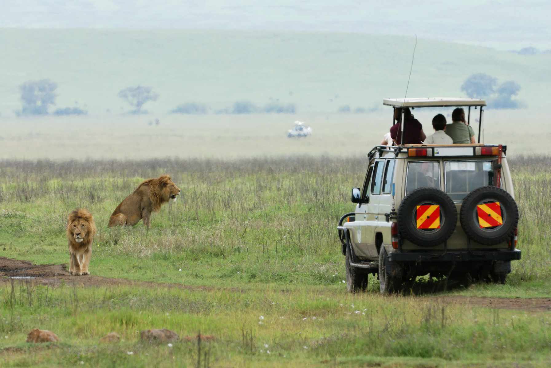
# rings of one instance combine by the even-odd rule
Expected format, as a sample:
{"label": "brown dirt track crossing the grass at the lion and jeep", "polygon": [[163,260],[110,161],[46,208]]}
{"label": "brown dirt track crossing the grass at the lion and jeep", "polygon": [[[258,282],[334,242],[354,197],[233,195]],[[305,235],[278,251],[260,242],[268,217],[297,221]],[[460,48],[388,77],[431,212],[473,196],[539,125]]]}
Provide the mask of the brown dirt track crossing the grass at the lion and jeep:
{"label": "brown dirt track crossing the grass at the lion and jeep", "polygon": [[[66,265],[35,265],[28,261],[12,260],[0,257],[0,283],[8,283],[10,277],[33,277],[31,280],[44,285],[76,283],[85,287],[129,285],[138,287],[169,287],[179,289],[210,290],[214,288],[190,286],[183,284],[155,283],[133,281],[125,278],[108,278],[101,276],[71,276]],[[480,296],[437,296],[435,300],[445,304],[466,304],[495,309],[523,311],[551,311],[551,298],[489,298]]]}

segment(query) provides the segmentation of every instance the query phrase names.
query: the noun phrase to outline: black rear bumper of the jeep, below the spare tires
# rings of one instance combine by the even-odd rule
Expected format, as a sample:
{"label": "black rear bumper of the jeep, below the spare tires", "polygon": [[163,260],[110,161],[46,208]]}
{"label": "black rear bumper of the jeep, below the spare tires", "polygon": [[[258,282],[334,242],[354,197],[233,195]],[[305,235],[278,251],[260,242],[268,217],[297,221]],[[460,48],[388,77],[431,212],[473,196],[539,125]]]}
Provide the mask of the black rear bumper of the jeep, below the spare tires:
{"label": "black rear bumper of the jeep, below the spare tires", "polygon": [[388,254],[389,262],[468,262],[468,261],[514,261],[520,260],[520,249],[505,251],[414,251],[392,252]]}

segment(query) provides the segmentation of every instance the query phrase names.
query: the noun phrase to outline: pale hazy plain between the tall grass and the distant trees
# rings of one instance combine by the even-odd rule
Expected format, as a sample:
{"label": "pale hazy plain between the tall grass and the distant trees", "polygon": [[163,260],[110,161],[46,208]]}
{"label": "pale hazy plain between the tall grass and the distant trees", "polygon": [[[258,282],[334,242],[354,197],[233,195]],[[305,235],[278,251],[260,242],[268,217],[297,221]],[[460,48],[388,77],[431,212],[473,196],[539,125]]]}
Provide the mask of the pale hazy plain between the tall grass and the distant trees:
{"label": "pale hazy plain between the tall grass and the distant trees", "polygon": [[[151,157],[236,159],[289,155],[364,156],[392,124],[392,108],[365,114],[301,113],[178,116],[0,118],[0,159],[117,159]],[[432,118],[452,108],[415,109],[427,135]],[[159,125],[149,125],[154,118]],[[478,111],[472,114],[478,138]],[[535,109],[484,112],[483,142],[506,144],[509,156],[547,153],[551,125]],[[288,139],[295,120],[312,127],[308,139]],[[183,163],[187,164],[187,163]],[[185,169],[185,168],[180,168]],[[360,170],[361,171],[361,170]]]}

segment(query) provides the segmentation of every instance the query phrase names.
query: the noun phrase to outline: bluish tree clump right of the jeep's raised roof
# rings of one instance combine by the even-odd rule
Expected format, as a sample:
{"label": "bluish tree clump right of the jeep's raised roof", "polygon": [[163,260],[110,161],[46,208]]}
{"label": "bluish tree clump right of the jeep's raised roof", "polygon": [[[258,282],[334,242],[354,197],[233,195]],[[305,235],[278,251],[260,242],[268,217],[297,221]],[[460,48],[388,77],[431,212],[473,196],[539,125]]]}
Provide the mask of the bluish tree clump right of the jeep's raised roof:
{"label": "bluish tree clump right of the jeep's raised roof", "polygon": [[488,108],[495,109],[516,109],[523,107],[523,104],[516,100],[521,86],[512,80],[498,84],[494,76],[476,73],[469,76],[461,85],[468,97],[487,100]]}

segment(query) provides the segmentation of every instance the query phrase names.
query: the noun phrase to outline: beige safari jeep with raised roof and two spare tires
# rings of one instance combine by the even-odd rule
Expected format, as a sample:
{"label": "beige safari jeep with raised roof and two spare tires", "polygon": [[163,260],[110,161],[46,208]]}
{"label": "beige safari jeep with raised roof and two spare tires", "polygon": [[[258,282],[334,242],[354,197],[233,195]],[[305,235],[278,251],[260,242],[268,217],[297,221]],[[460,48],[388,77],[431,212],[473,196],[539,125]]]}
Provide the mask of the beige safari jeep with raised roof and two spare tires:
{"label": "beige safari jeep with raised roof and two spare tires", "polygon": [[[479,108],[479,131],[486,105],[470,98],[383,103],[468,107],[469,120],[471,108]],[[511,261],[521,256],[506,151],[480,143],[374,147],[363,186],[352,189],[355,211],[337,227],[348,290],[365,290],[370,274],[378,275],[381,293],[428,273],[505,283]]]}

